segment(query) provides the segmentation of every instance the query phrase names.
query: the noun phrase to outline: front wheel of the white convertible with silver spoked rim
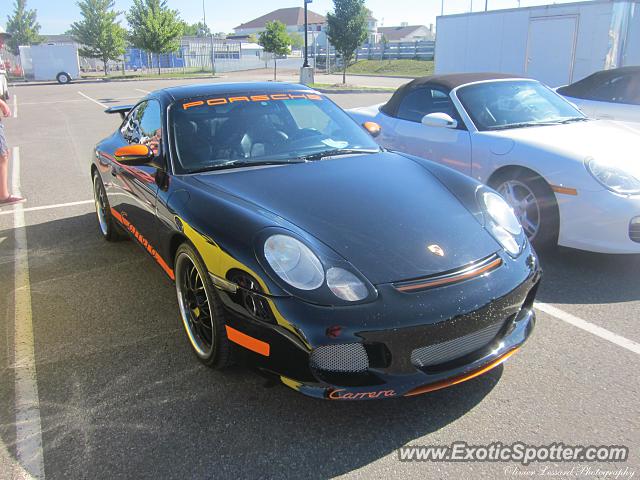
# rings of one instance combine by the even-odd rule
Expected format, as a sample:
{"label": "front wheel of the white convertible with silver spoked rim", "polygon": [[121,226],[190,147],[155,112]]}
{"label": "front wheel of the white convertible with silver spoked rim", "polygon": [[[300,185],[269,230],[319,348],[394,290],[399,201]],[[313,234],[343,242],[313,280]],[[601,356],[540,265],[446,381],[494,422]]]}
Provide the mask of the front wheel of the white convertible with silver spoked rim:
{"label": "front wheel of the white convertible with silver spoked rim", "polygon": [[492,180],[491,186],[514,209],[536,250],[558,245],[558,204],[553,190],[542,177],[530,170],[510,170]]}

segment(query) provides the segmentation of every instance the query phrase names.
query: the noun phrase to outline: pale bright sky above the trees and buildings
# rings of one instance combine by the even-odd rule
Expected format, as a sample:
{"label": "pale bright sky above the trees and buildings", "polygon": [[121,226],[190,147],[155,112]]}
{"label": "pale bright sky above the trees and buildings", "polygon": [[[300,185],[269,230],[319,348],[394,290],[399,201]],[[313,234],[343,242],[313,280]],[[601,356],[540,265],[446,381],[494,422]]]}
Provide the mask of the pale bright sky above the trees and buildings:
{"label": "pale bright sky above the trees and buildings", "polygon": [[[487,0],[489,9],[514,8],[517,0]],[[521,6],[542,5],[548,3],[565,3],[576,0],[521,0]],[[128,10],[131,0],[116,0],[116,9]],[[484,10],[485,0],[445,0],[445,14],[462,13]],[[183,20],[195,23],[202,20],[202,0],[168,0],[170,8],[178,10]],[[229,2],[223,0],[204,0],[207,25],[213,32],[232,32],[233,27],[252,20],[272,10],[285,7],[304,6],[303,1],[291,0],[240,0]],[[367,7],[378,19],[379,26],[400,25],[408,22],[410,25],[435,24],[440,15],[441,0],[366,0]],[[35,8],[38,12],[38,22],[42,26],[41,34],[63,33],[69,25],[79,19],[79,8],[75,0],[27,0],[28,8]],[[309,9],[320,14],[326,14],[333,7],[332,0],[313,0]],[[0,2],[0,25],[6,27],[7,15],[13,11],[13,0]],[[120,17],[125,23],[124,17]]]}

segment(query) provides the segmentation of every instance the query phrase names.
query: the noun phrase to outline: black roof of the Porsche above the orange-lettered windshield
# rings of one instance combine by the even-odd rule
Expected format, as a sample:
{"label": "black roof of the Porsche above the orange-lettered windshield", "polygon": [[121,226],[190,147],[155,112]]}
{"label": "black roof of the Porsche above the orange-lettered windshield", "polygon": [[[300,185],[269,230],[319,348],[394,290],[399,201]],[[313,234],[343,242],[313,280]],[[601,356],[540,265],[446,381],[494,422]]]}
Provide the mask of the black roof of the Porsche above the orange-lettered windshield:
{"label": "black roof of the Porsche above the orange-lettered windshield", "polygon": [[308,90],[314,92],[304,85],[295,83],[276,82],[229,82],[229,83],[199,83],[194,85],[181,85],[178,87],[168,87],[156,90],[154,95],[163,93],[170,95],[173,100],[185,98],[204,97],[207,95],[257,95],[264,93],[282,93],[291,91]]}

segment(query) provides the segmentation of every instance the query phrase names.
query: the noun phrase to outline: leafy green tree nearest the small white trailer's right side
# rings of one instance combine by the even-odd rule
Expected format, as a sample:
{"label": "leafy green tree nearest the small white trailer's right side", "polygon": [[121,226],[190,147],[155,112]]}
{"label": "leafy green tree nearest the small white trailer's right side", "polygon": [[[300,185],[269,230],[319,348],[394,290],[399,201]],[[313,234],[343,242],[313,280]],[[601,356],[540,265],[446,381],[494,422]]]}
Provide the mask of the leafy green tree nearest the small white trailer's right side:
{"label": "leafy green tree nearest the small white trailer's right side", "polygon": [[71,24],[71,34],[82,45],[83,57],[99,58],[107,75],[109,60],[118,60],[124,53],[126,31],[117,18],[114,0],[80,0],[82,20]]}

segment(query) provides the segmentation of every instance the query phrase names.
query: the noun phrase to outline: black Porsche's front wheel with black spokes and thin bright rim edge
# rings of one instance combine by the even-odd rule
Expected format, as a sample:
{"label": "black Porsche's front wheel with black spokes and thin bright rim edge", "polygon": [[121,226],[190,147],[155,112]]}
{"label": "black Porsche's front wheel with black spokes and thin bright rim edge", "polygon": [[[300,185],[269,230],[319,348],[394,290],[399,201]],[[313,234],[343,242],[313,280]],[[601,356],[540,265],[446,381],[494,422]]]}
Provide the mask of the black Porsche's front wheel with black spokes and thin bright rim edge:
{"label": "black Porsche's front wheel with black spokes and thin bright rim edge", "polygon": [[223,369],[231,365],[224,311],[204,262],[191,245],[183,243],[174,265],[178,310],[193,352],[208,367]]}

